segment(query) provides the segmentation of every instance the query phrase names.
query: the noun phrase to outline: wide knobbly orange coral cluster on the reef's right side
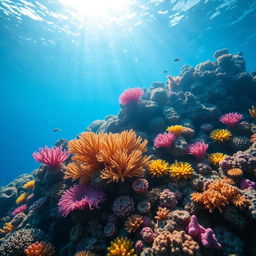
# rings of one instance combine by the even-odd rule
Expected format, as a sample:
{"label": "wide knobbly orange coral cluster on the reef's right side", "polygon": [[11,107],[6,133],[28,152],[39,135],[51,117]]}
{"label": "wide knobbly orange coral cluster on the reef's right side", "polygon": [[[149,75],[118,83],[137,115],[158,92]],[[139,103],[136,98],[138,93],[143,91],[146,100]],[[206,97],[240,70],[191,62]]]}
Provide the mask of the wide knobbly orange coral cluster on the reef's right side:
{"label": "wide knobbly orange coral cluster on the reef's right side", "polygon": [[210,212],[213,212],[214,209],[219,209],[222,212],[222,208],[230,203],[237,207],[245,206],[248,200],[237,187],[231,184],[233,181],[230,179],[213,181],[203,193],[192,193],[191,199],[202,203]]}

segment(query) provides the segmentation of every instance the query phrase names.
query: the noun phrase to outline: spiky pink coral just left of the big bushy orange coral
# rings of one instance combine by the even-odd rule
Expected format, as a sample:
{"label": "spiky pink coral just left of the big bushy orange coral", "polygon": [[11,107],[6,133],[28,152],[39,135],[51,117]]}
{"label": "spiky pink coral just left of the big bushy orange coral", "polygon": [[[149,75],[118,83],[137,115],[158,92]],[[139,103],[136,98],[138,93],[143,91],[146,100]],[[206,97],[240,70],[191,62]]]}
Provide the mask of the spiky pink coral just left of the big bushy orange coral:
{"label": "spiky pink coral just left of the big bushy orange coral", "polygon": [[62,146],[48,148],[40,148],[39,152],[33,153],[33,158],[40,162],[50,166],[59,166],[60,163],[65,161],[69,157],[67,151],[62,151]]}

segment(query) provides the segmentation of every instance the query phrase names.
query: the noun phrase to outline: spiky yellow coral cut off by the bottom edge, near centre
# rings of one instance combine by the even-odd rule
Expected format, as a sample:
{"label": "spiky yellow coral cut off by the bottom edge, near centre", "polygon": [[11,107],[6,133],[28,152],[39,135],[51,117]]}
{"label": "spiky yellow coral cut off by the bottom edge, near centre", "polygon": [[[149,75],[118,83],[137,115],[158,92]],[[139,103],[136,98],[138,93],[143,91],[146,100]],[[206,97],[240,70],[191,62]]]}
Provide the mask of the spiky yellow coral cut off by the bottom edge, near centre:
{"label": "spiky yellow coral cut off by the bottom edge, near centre", "polygon": [[107,256],[137,256],[132,240],[127,237],[117,237],[107,250]]}

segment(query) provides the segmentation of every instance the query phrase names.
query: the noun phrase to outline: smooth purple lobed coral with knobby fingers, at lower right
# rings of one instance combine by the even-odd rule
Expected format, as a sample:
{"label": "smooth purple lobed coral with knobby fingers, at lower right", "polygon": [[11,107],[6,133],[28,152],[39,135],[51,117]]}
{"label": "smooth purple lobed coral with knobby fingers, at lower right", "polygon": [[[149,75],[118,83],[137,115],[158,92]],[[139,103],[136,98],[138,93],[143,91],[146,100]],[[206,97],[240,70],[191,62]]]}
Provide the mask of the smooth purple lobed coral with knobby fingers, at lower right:
{"label": "smooth purple lobed coral with knobby fingers, at lower right", "polygon": [[212,249],[221,248],[221,245],[218,243],[213,230],[210,228],[206,229],[199,225],[195,215],[191,216],[190,222],[187,226],[187,231],[193,237],[193,239],[200,241],[204,247]]}

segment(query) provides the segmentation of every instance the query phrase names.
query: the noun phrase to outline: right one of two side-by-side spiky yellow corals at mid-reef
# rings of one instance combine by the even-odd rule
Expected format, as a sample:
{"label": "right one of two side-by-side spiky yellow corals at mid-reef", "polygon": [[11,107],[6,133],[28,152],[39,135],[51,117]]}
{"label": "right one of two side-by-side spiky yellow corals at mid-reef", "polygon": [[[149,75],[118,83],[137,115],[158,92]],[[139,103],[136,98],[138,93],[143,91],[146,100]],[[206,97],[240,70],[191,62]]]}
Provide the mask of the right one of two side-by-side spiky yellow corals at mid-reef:
{"label": "right one of two side-by-side spiky yellow corals at mid-reef", "polygon": [[169,167],[170,176],[174,179],[187,179],[193,174],[194,169],[186,162],[175,162]]}

